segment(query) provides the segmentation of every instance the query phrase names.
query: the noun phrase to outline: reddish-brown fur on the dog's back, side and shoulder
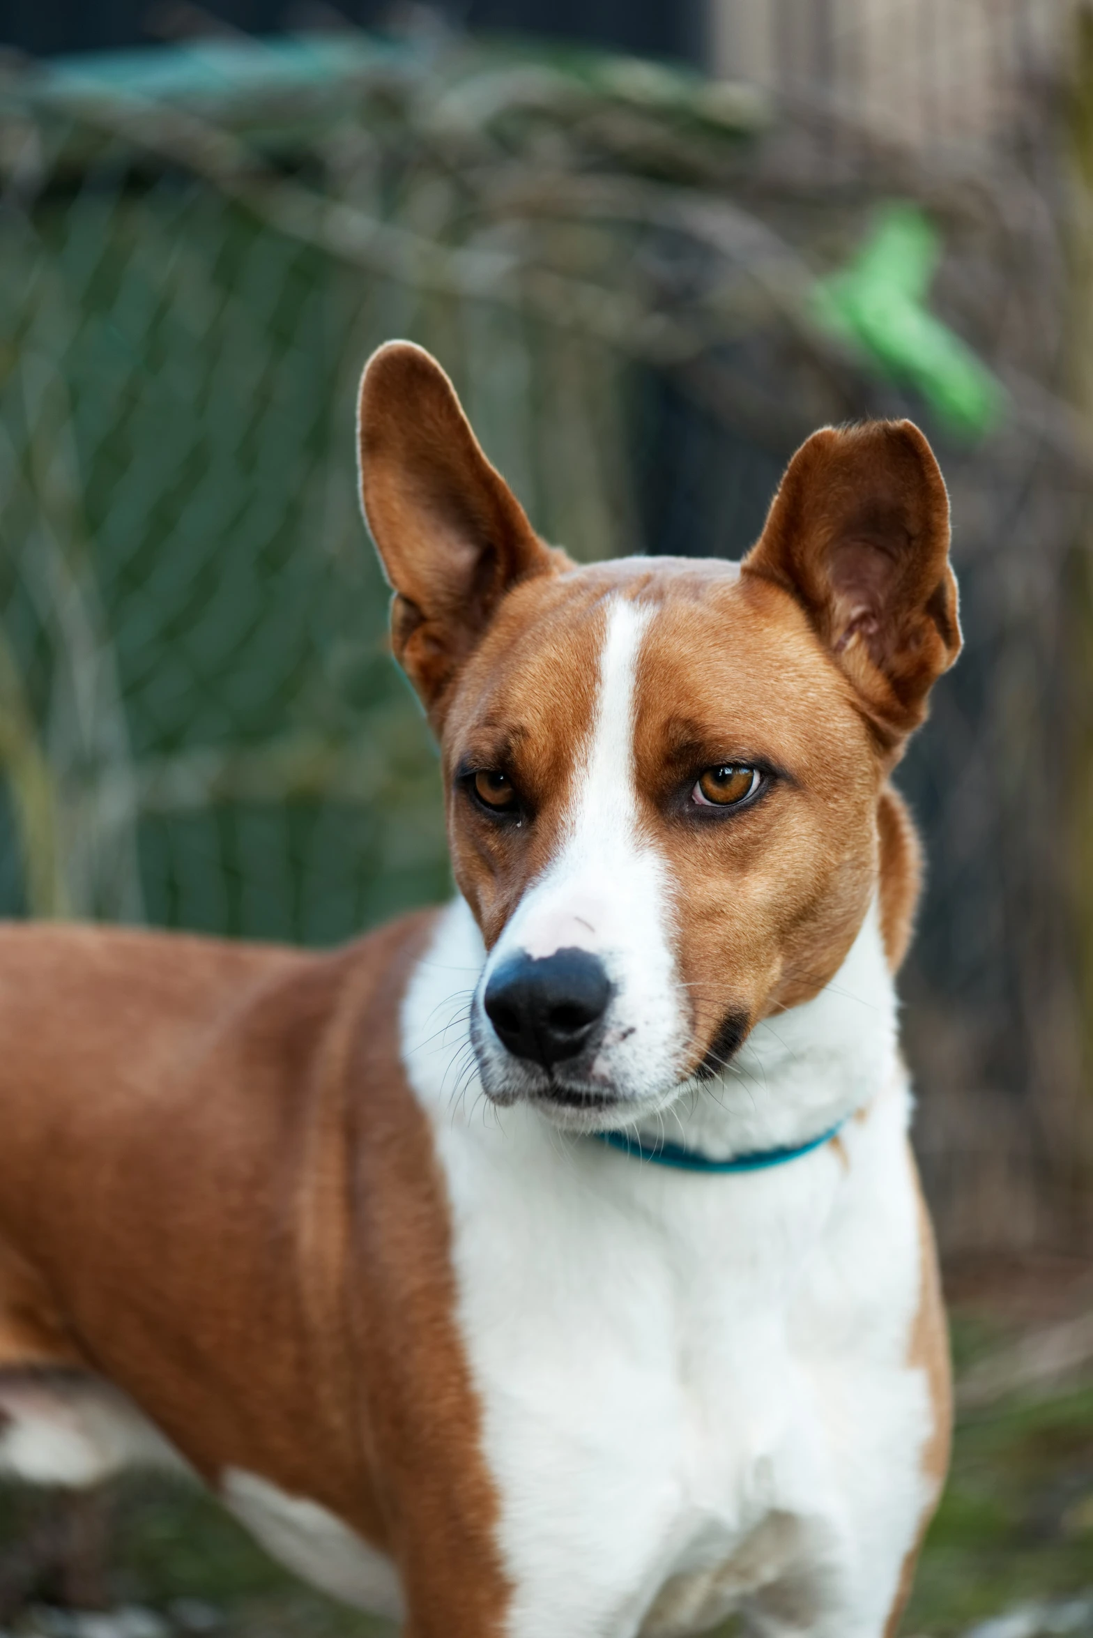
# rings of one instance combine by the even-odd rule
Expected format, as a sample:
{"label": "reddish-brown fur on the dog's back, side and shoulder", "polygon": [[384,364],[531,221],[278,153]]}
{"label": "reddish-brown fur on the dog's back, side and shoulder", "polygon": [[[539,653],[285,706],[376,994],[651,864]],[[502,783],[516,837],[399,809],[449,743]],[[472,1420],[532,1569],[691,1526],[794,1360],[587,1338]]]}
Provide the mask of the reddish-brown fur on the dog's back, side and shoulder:
{"label": "reddish-brown fur on the dog's back, side and shoulder", "polygon": [[496,1497],[398,1047],[427,932],[3,930],[0,1337],[106,1376],[211,1484],[257,1473],[386,1548],[417,1638],[479,1638]]}

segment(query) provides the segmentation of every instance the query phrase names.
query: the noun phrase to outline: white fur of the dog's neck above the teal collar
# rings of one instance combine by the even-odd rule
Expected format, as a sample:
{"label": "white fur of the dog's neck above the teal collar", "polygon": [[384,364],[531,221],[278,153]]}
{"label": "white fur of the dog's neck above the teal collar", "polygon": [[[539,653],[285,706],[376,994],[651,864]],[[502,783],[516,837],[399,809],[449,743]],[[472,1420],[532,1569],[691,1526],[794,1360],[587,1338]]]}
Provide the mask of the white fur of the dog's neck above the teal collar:
{"label": "white fur of the dog's neck above the teal collar", "polygon": [[[442,914],[404,1006],[411,1079],[457,1119],[484,1099],[466,1029],[484,960],[475,919],[457,899]],[[874,904],[818,996],[764,1019],[725,1071],[687,1083],[671,1107],[636,1130],[643,1142],[668,1138],[710,1160],[795,1147],[870,1104],[897,1063],[895,984]],[[540,1119],[543,1138],[556,1147],[558,1132],[546,1115]]]}

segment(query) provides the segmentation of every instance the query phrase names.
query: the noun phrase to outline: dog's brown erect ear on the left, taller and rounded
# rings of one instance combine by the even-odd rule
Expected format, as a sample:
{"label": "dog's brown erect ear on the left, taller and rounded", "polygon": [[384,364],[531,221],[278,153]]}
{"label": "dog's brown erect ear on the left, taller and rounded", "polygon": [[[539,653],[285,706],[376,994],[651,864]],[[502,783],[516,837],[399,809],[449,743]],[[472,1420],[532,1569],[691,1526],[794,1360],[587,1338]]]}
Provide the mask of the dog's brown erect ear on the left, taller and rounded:
{"label": "dog's brown erect ear on the left, taller and rounded", "polygon": [[551,573],[556,555],[422,347],[389,341],[373,352],[357,431],[365,519],[394,590],[391,645],[434,714],[504,595]]}

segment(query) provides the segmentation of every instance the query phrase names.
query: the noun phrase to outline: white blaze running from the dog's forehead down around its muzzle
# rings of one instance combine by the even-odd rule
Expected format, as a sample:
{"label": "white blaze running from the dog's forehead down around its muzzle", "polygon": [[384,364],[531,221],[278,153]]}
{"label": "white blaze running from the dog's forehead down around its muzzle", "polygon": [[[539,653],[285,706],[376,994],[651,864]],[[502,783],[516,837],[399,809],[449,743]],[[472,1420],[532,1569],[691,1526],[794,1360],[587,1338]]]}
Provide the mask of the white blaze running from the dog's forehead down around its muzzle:
{"label": "white blaze running from the dog's forehead down around its muzzle", "polygon": [[[686,1037],[671,948],[663,857],[640,834],[635,786],[636,675],[653,609],[607,604],[596,714],[578,757],[573,803],[546,873],[497,940],[491,968],[524,950],[599,955],[615,988],[600,1068],[636,1091],[671,1084]],[[641,1083],[640,1086],[636,1083]]]}

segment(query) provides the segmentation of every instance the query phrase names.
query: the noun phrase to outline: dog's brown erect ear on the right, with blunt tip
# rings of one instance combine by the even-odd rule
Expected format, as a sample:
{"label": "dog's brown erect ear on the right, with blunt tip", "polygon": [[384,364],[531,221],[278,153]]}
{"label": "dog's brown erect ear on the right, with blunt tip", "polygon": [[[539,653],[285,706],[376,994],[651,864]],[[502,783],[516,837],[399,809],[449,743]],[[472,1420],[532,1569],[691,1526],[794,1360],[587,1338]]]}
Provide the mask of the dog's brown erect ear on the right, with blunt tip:
{"label": "dog's brown erect ear on the right, with blunt tip", "polygon": [[923,721],[931,685],[960,652],[960,624],[949,496],[911,421],[813,432],[741,572],[797,598],[882,742]]}

